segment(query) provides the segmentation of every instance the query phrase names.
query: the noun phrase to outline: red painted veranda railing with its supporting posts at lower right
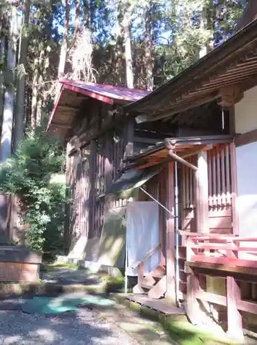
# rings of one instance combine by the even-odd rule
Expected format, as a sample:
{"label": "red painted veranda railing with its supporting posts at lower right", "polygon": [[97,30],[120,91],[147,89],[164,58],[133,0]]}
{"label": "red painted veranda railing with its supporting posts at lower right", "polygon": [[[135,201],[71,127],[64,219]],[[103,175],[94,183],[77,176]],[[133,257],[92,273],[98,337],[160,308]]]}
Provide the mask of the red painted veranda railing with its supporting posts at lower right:
{"label": "red painted veranda railing with its supporting posts at lower right", "polygon": [[[186,238],[187,305],[195,308],[196,299],[227,306],[228,332],[242,334],[241,311],[257,314],[257,304],[242,299],[240,282],[257,282],[257,237],[235,237],[189,233]],[[255,243],[253,247],[242,242]],[[226,295],[208,293],[200,288],[199,277],[209,275],[226,279]],[[194,310],[193,313],[196,311]],[[192,310],[191,310],[192,313]]]}

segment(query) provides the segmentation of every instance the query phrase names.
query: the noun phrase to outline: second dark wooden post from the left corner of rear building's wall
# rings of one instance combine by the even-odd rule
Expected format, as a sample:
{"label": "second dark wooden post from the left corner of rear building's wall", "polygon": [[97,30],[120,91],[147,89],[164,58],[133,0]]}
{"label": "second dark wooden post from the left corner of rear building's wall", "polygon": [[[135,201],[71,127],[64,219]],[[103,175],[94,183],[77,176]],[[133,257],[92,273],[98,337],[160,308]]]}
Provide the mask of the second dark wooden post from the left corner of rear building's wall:
{"label": "second dark wooden post from the left corner of rear building's wall", "polygon": [[95,174],[96,174],[97,150],[95,140],[91,140],[89,157],[89,207],[88,207],[88,238],[94,237],[95,233]]}

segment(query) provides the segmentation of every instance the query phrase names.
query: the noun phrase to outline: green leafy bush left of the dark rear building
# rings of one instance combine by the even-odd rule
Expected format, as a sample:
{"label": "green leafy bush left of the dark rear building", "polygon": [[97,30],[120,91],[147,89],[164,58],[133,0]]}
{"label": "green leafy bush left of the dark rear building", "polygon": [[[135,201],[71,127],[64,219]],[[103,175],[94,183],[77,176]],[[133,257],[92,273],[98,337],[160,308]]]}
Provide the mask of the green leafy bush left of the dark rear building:
{"label": "green leafy bush left of the dark rear building", "polygon": [[63,164],[59,142],[38,128],[1,165],[1,193],[19,198],[21,222],[29,226],[28,246],[34,250],[52,253],[61,246],[66,186],[51,176],[61,172]]}

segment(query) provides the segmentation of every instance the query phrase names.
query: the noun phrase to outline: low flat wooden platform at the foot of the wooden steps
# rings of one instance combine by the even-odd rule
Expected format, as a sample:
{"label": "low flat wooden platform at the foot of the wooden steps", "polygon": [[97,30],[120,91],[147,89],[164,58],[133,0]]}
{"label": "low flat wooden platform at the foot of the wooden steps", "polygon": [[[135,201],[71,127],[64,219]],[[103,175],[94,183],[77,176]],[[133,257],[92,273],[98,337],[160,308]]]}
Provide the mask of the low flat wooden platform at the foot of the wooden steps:
{"label": "low flat wooden platform at the foot of the wooden steps", "polygon": [[165,299],[151,299],[146,295],[133,295],[129,296],[127,299],[129,299],[131,302],[142,304],[142,306],[148,306],[149,308],[159,311],[165,315],[185,314],[182,309],[176,308]]}

